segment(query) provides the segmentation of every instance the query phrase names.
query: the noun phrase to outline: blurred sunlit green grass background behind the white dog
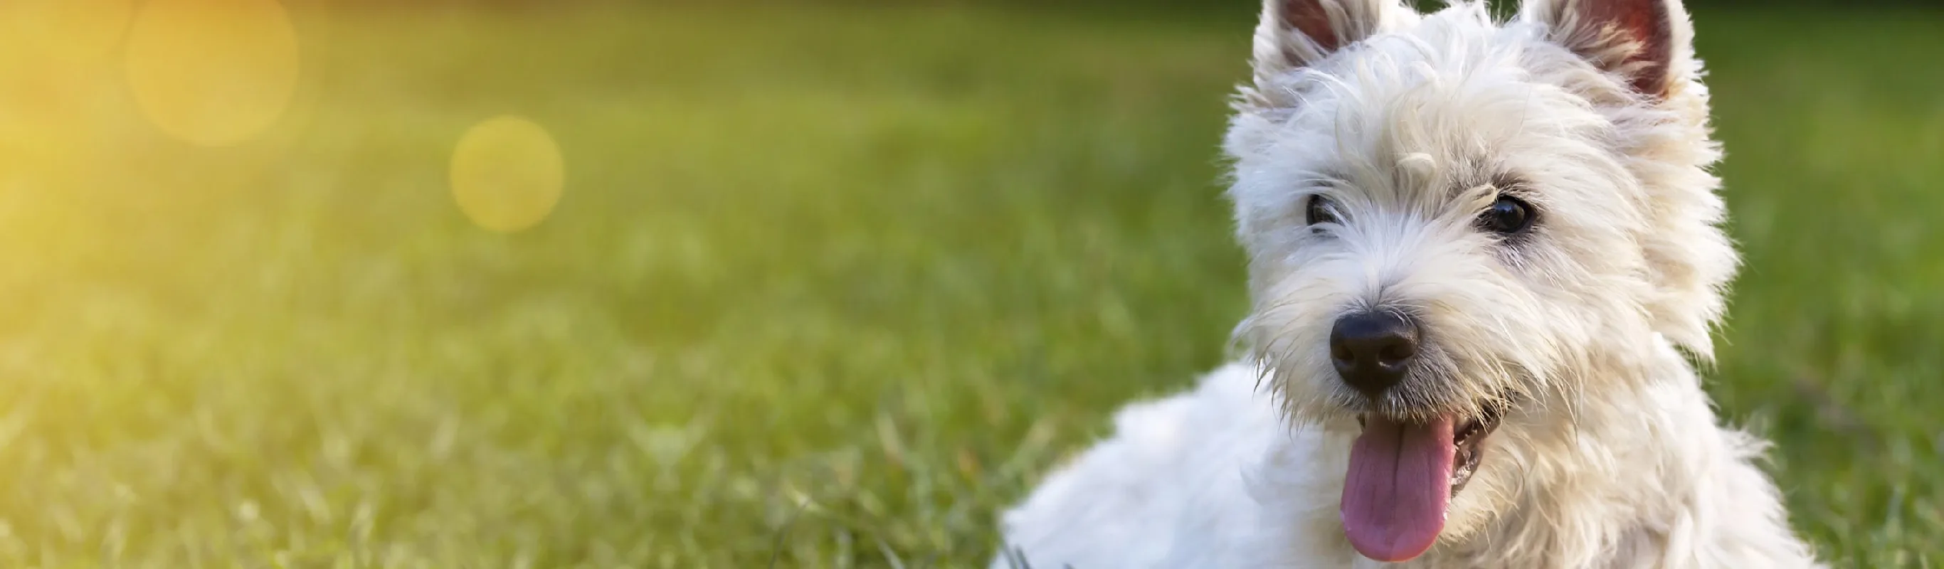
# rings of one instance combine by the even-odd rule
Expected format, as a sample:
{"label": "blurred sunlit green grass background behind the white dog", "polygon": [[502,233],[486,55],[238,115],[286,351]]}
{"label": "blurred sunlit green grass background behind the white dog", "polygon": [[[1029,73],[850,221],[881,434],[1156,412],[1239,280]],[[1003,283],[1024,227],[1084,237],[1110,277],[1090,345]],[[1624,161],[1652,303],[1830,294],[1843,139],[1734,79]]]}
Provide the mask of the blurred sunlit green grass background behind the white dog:
{"label": "blurred sunlit green grass background behind the white dog", "polygon": [[[1709,388],[1944,561],[1944,6],[1691,0]],[[1254,0],[0,4],[0,565],[976,567],[1244,313]]]}

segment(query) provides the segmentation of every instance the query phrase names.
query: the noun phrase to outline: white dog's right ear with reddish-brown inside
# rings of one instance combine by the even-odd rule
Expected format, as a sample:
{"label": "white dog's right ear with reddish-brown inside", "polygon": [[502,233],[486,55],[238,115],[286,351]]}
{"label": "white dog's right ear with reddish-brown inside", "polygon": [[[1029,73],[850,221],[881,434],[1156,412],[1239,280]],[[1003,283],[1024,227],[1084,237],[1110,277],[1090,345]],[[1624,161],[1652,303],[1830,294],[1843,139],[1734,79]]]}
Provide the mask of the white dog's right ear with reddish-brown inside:
{"label": "white dog's right ear with reddish-brown inside", "polygon": [[1666,95],[1693,54],[1682,0],[1524,0],[1520,19],[1649,97]]}

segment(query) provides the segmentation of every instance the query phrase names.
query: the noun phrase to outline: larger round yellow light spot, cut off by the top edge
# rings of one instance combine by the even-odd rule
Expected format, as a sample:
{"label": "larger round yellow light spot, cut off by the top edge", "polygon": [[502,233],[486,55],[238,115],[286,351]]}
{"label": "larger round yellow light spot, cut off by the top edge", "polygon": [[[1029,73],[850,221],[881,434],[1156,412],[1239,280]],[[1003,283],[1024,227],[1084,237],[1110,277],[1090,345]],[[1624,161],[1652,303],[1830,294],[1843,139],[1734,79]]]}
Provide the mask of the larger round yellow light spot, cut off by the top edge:
{"label": "larger round yellow light spot, cut off by the top edge", "polygon": [[297,89],[297,31],[276,0],[150,0],[128,29],[128,87],[175,138],[245,142]]}

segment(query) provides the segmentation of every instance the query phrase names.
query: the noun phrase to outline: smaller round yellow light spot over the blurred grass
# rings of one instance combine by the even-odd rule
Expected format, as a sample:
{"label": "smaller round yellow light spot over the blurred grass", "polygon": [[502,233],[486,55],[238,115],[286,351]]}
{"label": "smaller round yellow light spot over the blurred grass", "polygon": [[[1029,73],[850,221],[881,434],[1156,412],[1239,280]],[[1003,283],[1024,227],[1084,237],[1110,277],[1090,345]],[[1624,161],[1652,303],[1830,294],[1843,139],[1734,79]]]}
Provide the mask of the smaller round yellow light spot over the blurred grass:
{"label": "smaller round yellow light spot over the blurred grass", "polygon": [[566,167],[546,128],[519,117],[474,124],[453,148],[453,200],[492,231],[540,223],[560,202]]}

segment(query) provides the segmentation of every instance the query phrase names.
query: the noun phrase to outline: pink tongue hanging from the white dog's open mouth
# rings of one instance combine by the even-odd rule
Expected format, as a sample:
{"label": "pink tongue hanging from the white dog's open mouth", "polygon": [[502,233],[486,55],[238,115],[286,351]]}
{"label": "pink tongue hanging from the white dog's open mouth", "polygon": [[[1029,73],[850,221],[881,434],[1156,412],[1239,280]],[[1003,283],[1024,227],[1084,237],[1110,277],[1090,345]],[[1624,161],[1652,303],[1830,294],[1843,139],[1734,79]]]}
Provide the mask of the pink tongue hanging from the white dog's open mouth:
{"label": "pink tongue hanging from the white dog's open mouth", "polygon": [[1376,561],[1423,555],[1444,530],[1452,495],[1452,418],[1398,423],[1369,418],[1349,449],[1343,534]]}

